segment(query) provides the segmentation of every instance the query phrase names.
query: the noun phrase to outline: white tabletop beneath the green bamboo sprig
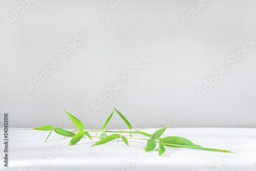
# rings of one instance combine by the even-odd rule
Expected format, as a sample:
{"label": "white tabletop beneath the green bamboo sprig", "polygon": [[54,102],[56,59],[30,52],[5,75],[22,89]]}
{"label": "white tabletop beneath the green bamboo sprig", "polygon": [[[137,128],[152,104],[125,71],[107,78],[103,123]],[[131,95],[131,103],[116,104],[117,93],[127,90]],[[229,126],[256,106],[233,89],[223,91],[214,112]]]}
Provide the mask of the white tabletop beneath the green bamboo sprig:
{"label": "white tabletop beneath the green bamboo sprig", "polygon": [[[144,131],[152,134],[156,130]],[[2,170],[256,170],[256,129],[168,128],[162,137],[180,136],[203,147],[236,153],[183,148],[166,149],[163,156],[158,156],[157,151],[145,153],[146,141],[143,140],[129,140],[130,146],[120,139],[118,146],[112,141],[90,147],[93,142],[89,138],[69,146],[71,138],[62,139],[54,132],[45,143],[49,131],[11,128],[9,134],[9,167],[3,168],[1,164]]]}

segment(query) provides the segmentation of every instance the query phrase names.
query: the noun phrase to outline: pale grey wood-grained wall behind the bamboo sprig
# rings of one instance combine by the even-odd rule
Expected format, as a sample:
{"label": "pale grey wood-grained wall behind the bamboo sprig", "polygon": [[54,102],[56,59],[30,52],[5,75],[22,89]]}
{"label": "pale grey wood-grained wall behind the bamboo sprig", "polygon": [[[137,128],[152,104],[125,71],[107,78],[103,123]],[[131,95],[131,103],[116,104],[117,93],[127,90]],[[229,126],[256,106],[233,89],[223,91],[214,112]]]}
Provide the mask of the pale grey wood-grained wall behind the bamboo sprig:
{"label": "pale grey wood-grained wall behind the bamboo sprig", "polygon": [[[37,0],[8,27],[23,1],[0,1],[0,113],[9,112],[10,126],[74,127],[66,110],[99,129],[113,106],[133,127],[256,126],[256,45],[236,65],[227,61],[245,39],[256,41],[255,1],[206,1],[178,31],[199,1],[124,0],[112,9],[110,1]],[[61,61],[75,34],[87,39]],[[141,55],[152,60],[126,83],[122,74]],[[30,93],[27,83],[53,60],[58,68]],[[222,66],[229,72],[200,98],[197,88]],[[95,114],[117,82],[124,88]],[[117,115],[109,124],[126,127]]]}

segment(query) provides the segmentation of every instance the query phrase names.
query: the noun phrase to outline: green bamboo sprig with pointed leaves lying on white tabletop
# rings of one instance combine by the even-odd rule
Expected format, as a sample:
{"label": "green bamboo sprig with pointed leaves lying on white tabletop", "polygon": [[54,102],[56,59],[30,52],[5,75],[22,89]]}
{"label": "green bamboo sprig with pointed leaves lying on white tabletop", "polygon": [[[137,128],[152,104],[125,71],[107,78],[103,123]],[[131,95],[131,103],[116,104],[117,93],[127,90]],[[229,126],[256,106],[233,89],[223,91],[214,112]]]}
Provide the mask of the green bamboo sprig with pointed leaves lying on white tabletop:
{"label": "green bamboo sprig with pointed leaves lying on white tabletop", "polygon": [[[127,145],[129,145],[129,142],[127,139],[146,140],[147,144],[146,144],[145,152],[153,151],[153,149],[156,148],[157,143],[158,143],[159,144],[158,152],[159,152],[160,156],[162,156],[164,154],[164,152],[166,150],[165,147],[172,147],[172,148],[176,148],[176,149],[177,148],[192,148],[192,149],[201,149],[201,150],[205,150],[205,151],[232,153],[232,152],[225,151],[222,149],[201,147],[201,145],[196,145],[193,142],[191,142],[190,140],[188,140],[186,138],[182,138],[182,137],[167,136],[167,137],[161,138],[162,134],[165,132],[168,125],[163,127],[160,130],[157,130],[152,135],[147,134],[145,132],[141,132],[140,130],[142,130],[142,129],[133,131],[132,125],[130,124],[130,122],[116,108],[114,108],[114,111],[111,113],[111,115],[108,117],[108,119],[106,119],[105,123],[103,124],[101,129],[98,131],[85,131],[84,125],[79,119],[75,118],[73,115],[71,115],[67,111],[65,111],[65,112],[68,114],[68,116],[70,117],[72,122],[75,124],[75,126],[77,127],[77,130],[74,130],[71,132],[68,130],[61,129],[59,127],[53,127],[51,125],[37,127],[32,130],[51,131],[50,134],[48,135],[47,139],[49,138],[49,136],[51,135],[51,133],[53,131],[61,136],[71,137],[72,139],[71,139],[69,145],[75,145],[84,137],[88,137],[91,140],[92,140],[92,137],[100,138],[100,140],[97,141],[96,143],[94,143],[92,146],[105,144],[105,143],[110,142],[115,139],[118,139],[118,141],[119,141],[120,138]],[[122,120],[125,122],[125,124],[129,127],[129,129],[130,129],[129,131],[103,131],[103,129],[106,127],[106,125],[109,123],[110,119],[112,118],[114,112],[116,112],[122,118]],[[75,132],[77,132],[77,133],[75,133]],[[96,135],[91,136],[89,132],[96,132]],[[100,136],[97,136],[98,132],[101,133]],[[112,135],[108,136],[106,133],[111,133]],[[125,137],[124,136],[125,134],[129,135],[129,137]],[[149,139],[148,138],[147,139],[133,138],[132,134],[140,134],[140,135],[145,136],[146,138],[149,137]],[[46,141],[47,141],[47,139],[46,139]]]}

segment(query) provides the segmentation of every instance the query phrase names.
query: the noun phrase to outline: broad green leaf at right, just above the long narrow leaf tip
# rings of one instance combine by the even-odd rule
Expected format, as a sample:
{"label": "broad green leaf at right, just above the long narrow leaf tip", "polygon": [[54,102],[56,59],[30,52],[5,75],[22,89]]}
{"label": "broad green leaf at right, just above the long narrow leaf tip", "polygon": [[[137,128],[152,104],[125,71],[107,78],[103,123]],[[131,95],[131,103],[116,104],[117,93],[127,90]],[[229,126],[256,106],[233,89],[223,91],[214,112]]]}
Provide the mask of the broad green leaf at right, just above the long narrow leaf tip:
{"label": "broad green leaf at right, just above the long narrow leaf tip", "polygon": [[201,145],[196,145],[190,140],[182,137],[164,137],[161,140],[162,143],[164,144],[177,144],[177,145],[188,145],[188,146],[201,146]]}

